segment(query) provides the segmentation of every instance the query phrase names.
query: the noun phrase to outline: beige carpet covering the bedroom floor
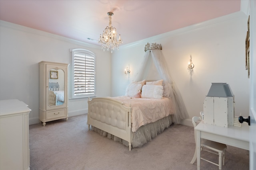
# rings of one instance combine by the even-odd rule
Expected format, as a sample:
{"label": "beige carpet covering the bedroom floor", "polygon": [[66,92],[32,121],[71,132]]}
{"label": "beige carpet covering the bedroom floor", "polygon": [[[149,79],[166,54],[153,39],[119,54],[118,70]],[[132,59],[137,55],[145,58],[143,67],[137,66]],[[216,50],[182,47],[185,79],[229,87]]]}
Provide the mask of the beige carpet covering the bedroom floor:
{"label": "beige carpet covering the bedroom floor", "polygon": [[[173,125],[141,148],[88,131],[87,115],[30,125],[31,170],[196,170],[194,129]],[[202,156],[209,155],[202,152]],[[211,154],[218,162],[218,156]],[[202,170],[218,166],[201,161]],[[228,146],[223,170],[248,170],[249,151]]]}

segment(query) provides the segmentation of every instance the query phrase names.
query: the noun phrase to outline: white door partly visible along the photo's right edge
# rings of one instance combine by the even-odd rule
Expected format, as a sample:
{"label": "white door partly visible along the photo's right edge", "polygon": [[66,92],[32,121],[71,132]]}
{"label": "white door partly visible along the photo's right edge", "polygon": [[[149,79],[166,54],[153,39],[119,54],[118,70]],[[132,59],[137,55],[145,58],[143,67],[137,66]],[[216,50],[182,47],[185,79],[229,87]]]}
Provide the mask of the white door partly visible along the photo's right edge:
{"label": "white door partly visible along the photo's right edge", "polygon": [[[256,30],[256,2],[250,0],[250,30]],[[250,31],[250,170],[256,170],[256,32]]]}

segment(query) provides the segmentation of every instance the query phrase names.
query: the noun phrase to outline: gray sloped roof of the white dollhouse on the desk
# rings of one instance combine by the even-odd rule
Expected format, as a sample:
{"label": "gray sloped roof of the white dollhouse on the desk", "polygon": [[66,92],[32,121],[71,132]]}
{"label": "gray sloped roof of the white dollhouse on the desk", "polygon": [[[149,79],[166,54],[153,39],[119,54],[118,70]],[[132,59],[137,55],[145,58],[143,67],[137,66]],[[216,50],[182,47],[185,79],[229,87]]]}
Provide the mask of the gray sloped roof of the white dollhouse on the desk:
{"label": "gray sloped roof of the white dollhouse on the desk", "polygon": [[234,95],[229,84],[212,83],[212,86],[210,87],[210,90],[207,96],[226,98],[226,97],[233,97]]}

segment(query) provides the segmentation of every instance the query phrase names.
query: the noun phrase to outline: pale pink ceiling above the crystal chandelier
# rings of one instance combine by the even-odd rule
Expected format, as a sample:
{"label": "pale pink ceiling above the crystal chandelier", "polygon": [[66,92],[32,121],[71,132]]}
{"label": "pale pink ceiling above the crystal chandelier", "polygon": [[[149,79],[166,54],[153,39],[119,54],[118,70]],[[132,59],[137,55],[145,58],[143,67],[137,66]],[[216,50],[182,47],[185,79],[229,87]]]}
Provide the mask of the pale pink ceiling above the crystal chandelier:
{"label": "pale pink ceiling above the crystal chandelier", "polygon": [[0,20],[98,44],[112,26],[123,44],[240,11],[240,0],[0,0]]}

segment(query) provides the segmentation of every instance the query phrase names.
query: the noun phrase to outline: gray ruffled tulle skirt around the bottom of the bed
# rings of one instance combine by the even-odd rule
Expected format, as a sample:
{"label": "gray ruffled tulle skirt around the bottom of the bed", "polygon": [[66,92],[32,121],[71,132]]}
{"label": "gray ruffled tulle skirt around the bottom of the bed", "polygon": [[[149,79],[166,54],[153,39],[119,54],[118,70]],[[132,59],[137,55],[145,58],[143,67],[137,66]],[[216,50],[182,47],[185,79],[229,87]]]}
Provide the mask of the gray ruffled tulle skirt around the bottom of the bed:
{"label": "gray ruffled tulle skirt around the bottom of the bed", "polygon": [[[169,115],[156,122],[141,126],[136,132],[133,133],[132,147],[142,147],[145,143],[151,141],[154,137],[162,133],[164,129],[170,127],[172,124],[174,124],[173,115]],[[103,137],[108,137],[108,139],[113,139],[116,142],[123,143],[126,147],[128,147],[128,142],[119,137],[111,135],[110,133],[93,126],[92,131],[97,132]]]}

